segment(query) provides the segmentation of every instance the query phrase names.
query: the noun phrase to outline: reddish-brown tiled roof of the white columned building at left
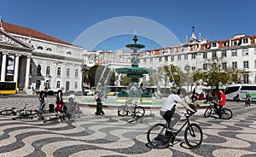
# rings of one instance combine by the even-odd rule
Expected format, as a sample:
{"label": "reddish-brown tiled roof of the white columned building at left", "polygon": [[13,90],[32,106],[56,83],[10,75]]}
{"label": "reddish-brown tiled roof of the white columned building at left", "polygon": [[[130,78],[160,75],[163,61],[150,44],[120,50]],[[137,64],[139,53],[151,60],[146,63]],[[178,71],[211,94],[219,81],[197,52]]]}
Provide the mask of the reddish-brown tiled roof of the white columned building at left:
{"label": "reddish-brown tiled roof of the white columned building at left", "polygon": [[19,35],[26,36],[26,37],[43,39],[43,40],[46,40],[46,41],[49,41],[49,42],[55,42],[55,43],[59,43],[59,44],[73,45],[73,44],[69,44],[67,42],[62,41],[61,39],[54,38],[54,37],[51,37],[47,34],[44,34],[43,32],[38,32],[36,30],[33,30],[31,28],[26,28],[26,27],[23,27],[23,26],[16,26],[16,25],[13,25],[13,24],[3,22],[3,29],[6,32],[19,34]]}

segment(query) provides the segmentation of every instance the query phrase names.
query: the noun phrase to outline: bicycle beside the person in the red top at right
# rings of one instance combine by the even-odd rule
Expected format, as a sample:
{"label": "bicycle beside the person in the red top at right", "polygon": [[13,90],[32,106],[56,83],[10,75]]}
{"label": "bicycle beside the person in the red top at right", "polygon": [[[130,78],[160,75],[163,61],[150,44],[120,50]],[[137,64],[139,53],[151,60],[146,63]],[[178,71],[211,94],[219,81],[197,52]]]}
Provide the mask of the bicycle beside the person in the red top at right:
{"label": "bicycle beside the person in the red top at right", "polygon": [[[218,103],[214,100],[212,102],[209,102],[209,104],[209,107],[204,113],[205,118],[209,117],[213,113],[218,114]],[[232,111],[229,108],[222,108],[220,113],[223,119],[231,119],[233,115]]]}

